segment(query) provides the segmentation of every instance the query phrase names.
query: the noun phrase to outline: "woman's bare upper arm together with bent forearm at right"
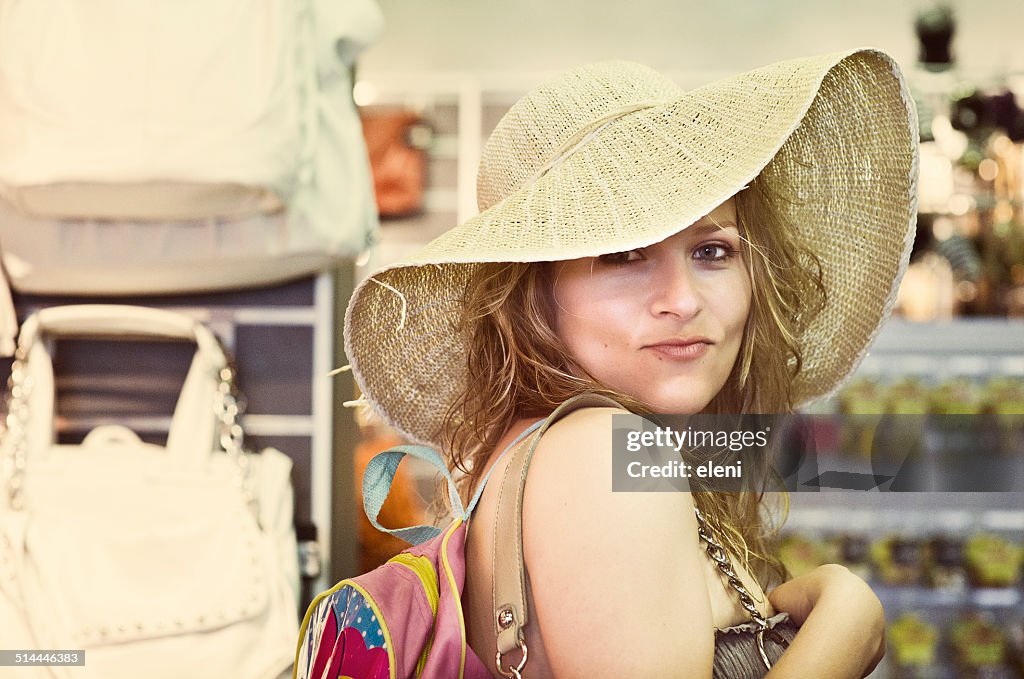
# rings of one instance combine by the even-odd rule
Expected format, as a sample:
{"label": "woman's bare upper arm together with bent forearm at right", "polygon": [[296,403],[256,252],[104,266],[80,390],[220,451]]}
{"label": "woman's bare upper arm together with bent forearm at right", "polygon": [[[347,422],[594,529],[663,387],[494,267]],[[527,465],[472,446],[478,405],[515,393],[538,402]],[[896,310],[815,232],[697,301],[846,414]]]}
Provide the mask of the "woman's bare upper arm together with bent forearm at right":
{"label": "woman's bare upper arm together with bent forearm at right", "polygon": [[[614,413],[573,413],[538,447],[523,506],[529,625],[558,679],[710,679],[708,556],[692,498],[611,492]],[[859,679],[881,657],[882,606],[846,568],[822,566],[769,599],[803,625],[770,679]]]}

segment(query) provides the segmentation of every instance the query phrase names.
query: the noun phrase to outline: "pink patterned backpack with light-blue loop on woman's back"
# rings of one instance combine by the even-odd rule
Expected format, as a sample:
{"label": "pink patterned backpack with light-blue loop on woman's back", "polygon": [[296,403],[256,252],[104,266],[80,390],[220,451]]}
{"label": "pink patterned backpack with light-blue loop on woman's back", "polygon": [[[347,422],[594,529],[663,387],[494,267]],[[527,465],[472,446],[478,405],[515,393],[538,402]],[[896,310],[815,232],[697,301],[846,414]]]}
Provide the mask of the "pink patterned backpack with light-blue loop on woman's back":
{"label": "pink patterned backpack with light-blue loop on woman's back", "polygon": [[[516,526],[519,531],[525,468],[541,434],[557,419],[578,408],[609,405],[617,406],[593,395],[570,399],[546,420],[527,428],[502,454],[508,454],[537,432],[528,445],[516,452],[509,465],[511,468],[521,462],[522,473],[506,474],[503,480],[503,484],[510,484],[509,494],[515,500],[508,509],[520,518]],[[447,479],[452,512],[457,518],[444,531],[426,525],[389,529],[378,523],[377,515],[406,455],[425,460]],[[375,570],[343,580],[313,600],[299,634],[295,662],[297,679],[486,679],[492,676],[487,670],[489,661],[485,664],[466,644],[462,610],[468,519],[480,499],[487,476],[469,506],[463,509],[455,479],[436,451],[422,445],[398,445],[371,460],[362,477],[367,516],[378,529],[392,533],[413,543],[414,547]],[[499,512],[502,515],[501,507]],[[507,576],[503,581],[510,584],[512,590],[517,590],[512,592],[511,600],[519,599],[517,609],[520,613],[506,631],[521,644],[522,624],[526,620],[521,589],[521,550],[517,556],[519,569],[501,575]],[[512,617],[511,612],[506,614]],[[502,647],[501,641],[499,647]],[[522,664],[515,669],[516,676],[521,670]]]}

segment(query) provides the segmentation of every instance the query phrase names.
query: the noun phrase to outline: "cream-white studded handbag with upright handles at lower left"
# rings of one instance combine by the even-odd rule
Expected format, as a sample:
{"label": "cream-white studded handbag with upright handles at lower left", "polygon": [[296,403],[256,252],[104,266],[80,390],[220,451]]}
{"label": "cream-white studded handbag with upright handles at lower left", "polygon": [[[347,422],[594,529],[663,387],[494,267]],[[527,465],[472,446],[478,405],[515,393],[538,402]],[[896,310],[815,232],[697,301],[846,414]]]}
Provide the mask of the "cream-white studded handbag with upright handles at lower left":
{"label": "cream-white studded handbag with upright handles at lower left", "polygon": [[[166,447],[105,425],[54,442],[44,336],[198,345]],[[243,451],[232,372],[187,316],[119,305],[26,321],[2,440],[0,641],[84,649],[84,667],[4,677],[279,677],[298,635],[291,461]]]}

